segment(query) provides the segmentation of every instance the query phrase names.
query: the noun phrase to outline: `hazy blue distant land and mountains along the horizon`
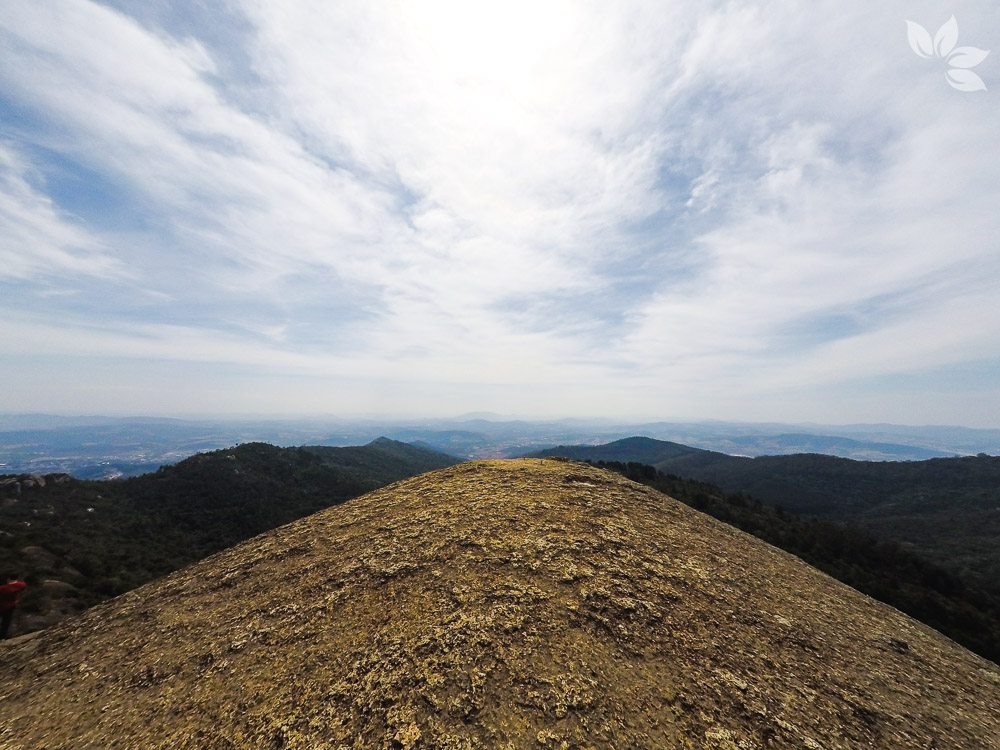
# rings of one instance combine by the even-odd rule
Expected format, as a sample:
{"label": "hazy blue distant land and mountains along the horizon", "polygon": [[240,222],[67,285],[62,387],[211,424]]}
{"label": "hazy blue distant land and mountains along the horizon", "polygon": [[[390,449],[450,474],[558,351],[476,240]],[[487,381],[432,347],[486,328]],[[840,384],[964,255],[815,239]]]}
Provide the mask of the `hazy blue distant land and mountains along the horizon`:
{"label": "hazy blue distant land and mountains along the horizon", "polygon": [[632,435],[730,455],[822,453],[869,461],[1000,454],[1000,430],[898,425],[740,422],[529,421],[469,414],[457,419],[201,419],[0,414],[0,472],[67,473],[79,479],[155,471],[237,443],[361,445],[385,436],[460,458],[522,455],[557,444],[597,445]]}

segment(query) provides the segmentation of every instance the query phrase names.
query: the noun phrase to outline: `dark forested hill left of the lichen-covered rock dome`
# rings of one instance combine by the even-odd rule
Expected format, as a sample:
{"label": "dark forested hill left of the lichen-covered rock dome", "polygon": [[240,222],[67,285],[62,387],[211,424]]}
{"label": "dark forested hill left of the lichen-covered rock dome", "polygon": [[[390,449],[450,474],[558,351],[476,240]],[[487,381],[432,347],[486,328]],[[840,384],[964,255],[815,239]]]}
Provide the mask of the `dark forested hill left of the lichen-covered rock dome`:
{"label": "dark forested hill left of the lichen-covered rock dome", "polygon": [[399,479],[459,463],[381,438],[352,448],[246,443],[131,479],[0,476],[0,575],[25,576],[17,632]]}

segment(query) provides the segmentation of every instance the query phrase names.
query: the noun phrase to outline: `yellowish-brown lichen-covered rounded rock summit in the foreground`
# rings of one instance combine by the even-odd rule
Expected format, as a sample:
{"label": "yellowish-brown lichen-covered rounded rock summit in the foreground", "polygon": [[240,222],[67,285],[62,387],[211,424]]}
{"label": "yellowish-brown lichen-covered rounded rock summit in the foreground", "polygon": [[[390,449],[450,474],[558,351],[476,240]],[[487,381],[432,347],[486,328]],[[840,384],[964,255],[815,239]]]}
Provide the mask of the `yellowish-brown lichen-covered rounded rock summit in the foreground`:
{"label": "yellowish-brown lichen-covered rounded rock summit in the foreground", "polygon": [[0,646],[18,748],[928,748],[1000,673],[605,471],[474,462]]}

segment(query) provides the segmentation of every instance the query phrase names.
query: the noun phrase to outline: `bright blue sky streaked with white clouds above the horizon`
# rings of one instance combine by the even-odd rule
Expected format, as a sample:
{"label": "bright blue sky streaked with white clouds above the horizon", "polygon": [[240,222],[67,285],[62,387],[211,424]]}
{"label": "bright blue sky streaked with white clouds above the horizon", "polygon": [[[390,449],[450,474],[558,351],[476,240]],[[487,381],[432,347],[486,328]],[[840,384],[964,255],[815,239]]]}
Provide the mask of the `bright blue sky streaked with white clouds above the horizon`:
{"label": "bright blue sky streaked with white clouds above the horizon", "polygon": [[1000,427],[998,58],[993,0],[3,0],[0,411]]}

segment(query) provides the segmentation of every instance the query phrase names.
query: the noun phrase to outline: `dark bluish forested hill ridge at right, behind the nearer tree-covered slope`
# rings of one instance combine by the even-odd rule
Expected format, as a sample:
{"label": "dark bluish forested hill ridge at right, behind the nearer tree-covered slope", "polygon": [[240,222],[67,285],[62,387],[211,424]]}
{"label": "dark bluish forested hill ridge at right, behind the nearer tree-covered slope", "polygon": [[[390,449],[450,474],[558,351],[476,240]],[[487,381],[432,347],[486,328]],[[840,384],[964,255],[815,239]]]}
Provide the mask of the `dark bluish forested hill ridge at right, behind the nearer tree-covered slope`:
{"label": "dark bluish forested hill ridge at right, behind the nearer tree-covered slope", "polygon": [[934,562],[1000,580],[1000,457],[854,461],[817,454],[744,458],[636,437],[532,456],[638,462],[799,515],[849,521]]}

